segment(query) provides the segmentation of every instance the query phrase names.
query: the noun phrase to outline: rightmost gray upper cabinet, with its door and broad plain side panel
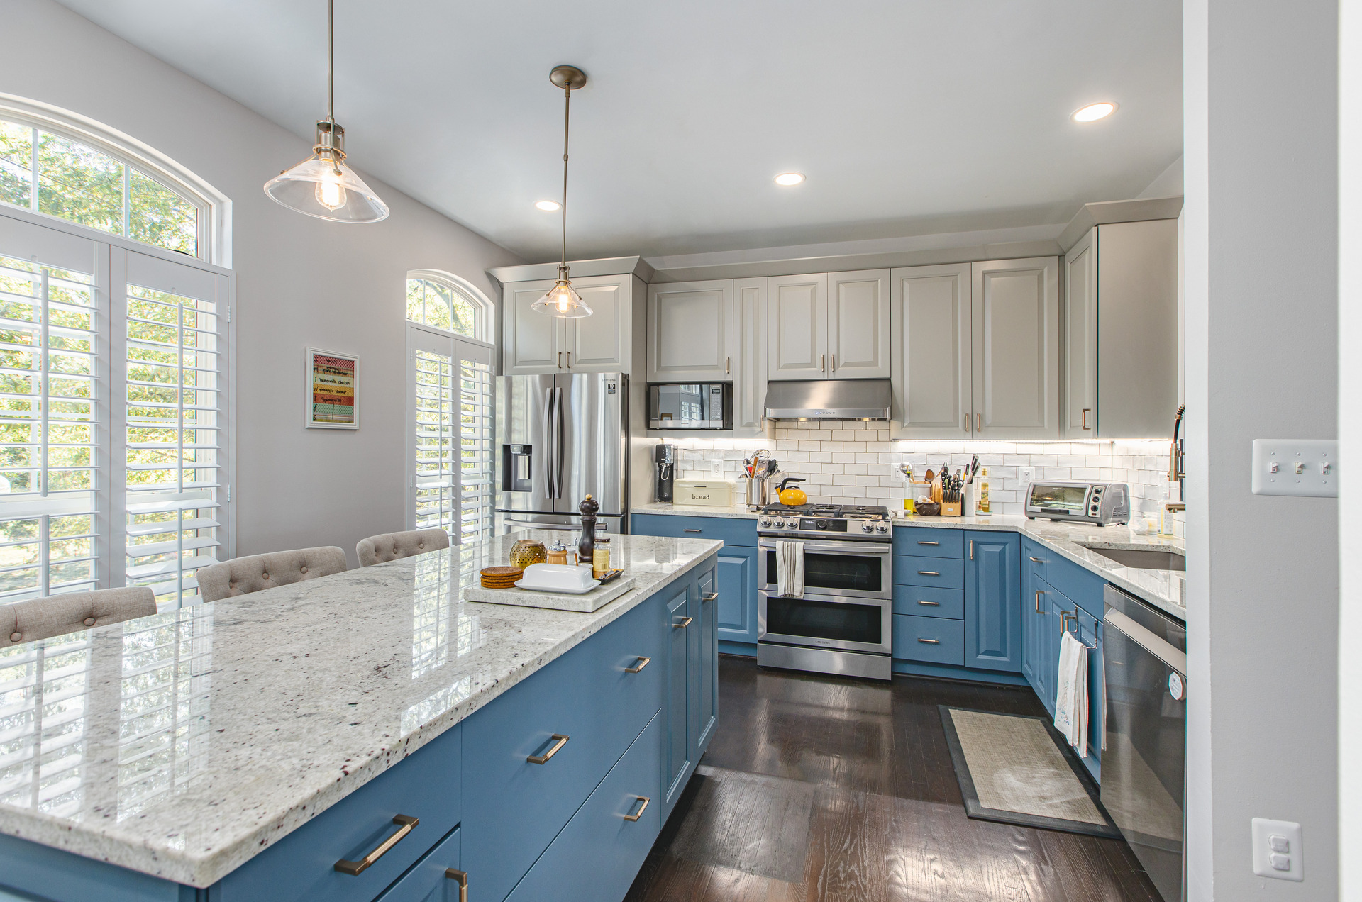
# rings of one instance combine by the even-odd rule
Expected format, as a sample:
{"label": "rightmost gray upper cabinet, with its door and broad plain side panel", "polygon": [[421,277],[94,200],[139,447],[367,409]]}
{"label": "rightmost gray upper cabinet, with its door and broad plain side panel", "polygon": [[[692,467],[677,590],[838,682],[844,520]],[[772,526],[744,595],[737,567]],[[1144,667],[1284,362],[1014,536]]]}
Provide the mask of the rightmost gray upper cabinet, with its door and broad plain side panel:
{"label": "rightmost gray upper cabinet, with its door and broad plain side panel", "polygon": [[1083,398],[1092,407],[1086,436],[1171,437],[1179,371],[1177,219],[1095,226],[1069,249],[1065,274],[1065,406],[1081,410],[1076,399]]}

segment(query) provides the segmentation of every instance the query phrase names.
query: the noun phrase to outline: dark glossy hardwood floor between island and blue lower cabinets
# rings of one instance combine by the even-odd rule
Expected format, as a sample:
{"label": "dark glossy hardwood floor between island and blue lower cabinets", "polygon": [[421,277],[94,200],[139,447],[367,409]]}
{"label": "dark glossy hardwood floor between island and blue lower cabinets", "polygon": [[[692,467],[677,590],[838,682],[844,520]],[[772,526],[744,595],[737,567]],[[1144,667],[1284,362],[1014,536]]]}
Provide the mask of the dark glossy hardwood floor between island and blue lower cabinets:
{"label": "dark glossy hardwood floor between island and blue lower cabinets", "polygon": [[1045,714],[720,657],[718,733],[627,902],[1159,902],[1125,842],[970,820],[937,704]]}

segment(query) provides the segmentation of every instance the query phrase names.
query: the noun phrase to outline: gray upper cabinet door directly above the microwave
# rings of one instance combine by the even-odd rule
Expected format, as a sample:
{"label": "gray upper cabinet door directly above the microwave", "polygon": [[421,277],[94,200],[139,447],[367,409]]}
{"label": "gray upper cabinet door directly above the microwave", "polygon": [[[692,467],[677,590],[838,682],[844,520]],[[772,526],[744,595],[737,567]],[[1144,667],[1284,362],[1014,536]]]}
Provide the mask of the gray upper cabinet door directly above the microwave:
{"label": "gray upper cabinet door directly above the microwave", "polygon": [[650,285],[648,382],[731,380],[733,324],[731,279]]}

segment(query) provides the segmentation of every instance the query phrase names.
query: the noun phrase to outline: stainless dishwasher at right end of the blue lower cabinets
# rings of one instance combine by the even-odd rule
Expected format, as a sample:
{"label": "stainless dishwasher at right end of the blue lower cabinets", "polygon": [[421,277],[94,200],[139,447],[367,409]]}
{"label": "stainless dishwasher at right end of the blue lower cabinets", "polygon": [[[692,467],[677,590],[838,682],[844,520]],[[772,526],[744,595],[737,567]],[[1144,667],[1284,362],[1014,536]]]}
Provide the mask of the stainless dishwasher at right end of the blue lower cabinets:
{"label": "stainless dishwasher at right end of the blue lower cabinets", "polygon": [[1186,624],[1114,586],[1103,600],[1102,804],[1165,902],[1182,902]]}

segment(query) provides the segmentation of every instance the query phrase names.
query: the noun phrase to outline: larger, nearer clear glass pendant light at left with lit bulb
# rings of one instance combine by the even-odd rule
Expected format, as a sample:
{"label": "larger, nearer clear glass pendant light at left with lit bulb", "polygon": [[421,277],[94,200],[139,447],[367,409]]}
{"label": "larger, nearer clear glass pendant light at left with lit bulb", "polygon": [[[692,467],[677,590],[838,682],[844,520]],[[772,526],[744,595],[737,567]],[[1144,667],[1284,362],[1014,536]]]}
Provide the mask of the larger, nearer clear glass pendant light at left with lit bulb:
{"label": "larger, nearer clear glass pendant light at left with lit bulb", "polygon": [[264,192],[289,210],[331,222],[379,222],[388,204],[345,165],[345,129],[335,114],[335,0],[327,0],[327,117],[317,123],[312,155],[264,183]]}

